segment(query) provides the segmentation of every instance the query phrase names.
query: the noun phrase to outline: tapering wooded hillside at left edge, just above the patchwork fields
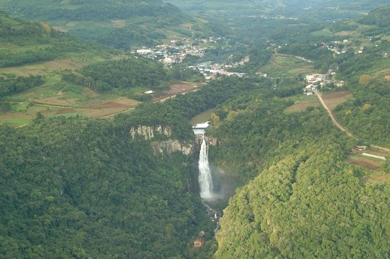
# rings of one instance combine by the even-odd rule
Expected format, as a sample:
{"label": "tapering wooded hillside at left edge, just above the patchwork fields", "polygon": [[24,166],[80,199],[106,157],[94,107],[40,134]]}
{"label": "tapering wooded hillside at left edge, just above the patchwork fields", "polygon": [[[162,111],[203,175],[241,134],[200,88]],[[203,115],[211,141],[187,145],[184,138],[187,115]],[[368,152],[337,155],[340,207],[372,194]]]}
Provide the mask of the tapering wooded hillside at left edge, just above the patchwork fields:
{"label": "tapering wooded hillside at left edge, just above the patchwork fields", "polygon": [[72,53],[105,51],[98,45],[56,31],[48,24],[10,18],[3,12],[0,12],[0,34],[0,67],[50,61]]}

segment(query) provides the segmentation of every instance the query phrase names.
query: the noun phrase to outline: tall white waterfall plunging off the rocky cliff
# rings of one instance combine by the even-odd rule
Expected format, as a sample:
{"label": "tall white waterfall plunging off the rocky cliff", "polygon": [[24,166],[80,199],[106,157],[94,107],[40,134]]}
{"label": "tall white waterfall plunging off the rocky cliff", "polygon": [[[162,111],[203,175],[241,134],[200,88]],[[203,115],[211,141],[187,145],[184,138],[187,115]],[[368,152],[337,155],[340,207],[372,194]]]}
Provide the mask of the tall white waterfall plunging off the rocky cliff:
{"label": "tall white waterfall plunging off the rocky cliff", "polygon": [[200,197],[211,197],[213,193],[213,179],[211,177],[209,167],[209,146],[207,145],[204,136],[202,145],[200,146],[198,180],[200,187]]}

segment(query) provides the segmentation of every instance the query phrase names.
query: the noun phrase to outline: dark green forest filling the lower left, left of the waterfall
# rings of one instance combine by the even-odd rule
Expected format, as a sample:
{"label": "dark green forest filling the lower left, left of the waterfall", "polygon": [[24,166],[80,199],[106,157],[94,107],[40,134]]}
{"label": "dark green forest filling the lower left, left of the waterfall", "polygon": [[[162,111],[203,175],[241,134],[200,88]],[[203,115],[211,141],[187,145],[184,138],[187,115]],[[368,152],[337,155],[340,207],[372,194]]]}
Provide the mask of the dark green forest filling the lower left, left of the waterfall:
{"label": "dark green forest filling the lower left, left of the waterfall", "polygon": [[0,126],[1,257],[168,258],[212,232],[194,158],[157,160],[117,130],[64,117]]}

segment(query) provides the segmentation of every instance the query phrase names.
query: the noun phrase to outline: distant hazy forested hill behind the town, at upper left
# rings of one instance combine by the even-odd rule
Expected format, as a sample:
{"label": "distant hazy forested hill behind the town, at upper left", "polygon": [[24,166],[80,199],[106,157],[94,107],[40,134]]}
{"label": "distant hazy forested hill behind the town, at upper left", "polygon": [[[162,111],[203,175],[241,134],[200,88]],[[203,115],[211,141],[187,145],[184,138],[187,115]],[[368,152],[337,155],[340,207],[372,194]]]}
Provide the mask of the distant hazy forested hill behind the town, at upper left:
{"label": "distant hazy forested hill behind the town, at upper left", "polygon": [[0,0],[0,6],[12,16],[44,21],[57,30],[121,49],[191,37],[190,27],[202,24],[160,0]]}

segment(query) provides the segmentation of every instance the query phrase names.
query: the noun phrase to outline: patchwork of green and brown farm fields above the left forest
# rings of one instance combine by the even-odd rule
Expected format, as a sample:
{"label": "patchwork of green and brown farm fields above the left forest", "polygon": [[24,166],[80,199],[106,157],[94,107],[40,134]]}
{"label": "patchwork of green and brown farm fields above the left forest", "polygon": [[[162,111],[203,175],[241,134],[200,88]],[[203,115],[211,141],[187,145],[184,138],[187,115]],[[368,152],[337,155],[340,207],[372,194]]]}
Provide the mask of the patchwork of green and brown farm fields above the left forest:
{"label": "patchwork of green and brown farm fields above the left forest", "polygon": [[[175,98],[176,94],[197,90],[202,86],[202,82],[174,81],[167,85],[171,87],[170,94],[155,97],[153,102],[163,102]],[[94,118],[109,117],[135,108],[140,102],[126,96],[133,93],[143,94],[145,90],[147,90],[145,87],[117,88],[97,93],[89,88],[64,82],[59,76],[52,76],[43,86],[11,96],[9,101],[13,103],[12,110],[0,112],[0,124],[14,127],[30,124],[38,112],[44,117],[77,115]]]}

